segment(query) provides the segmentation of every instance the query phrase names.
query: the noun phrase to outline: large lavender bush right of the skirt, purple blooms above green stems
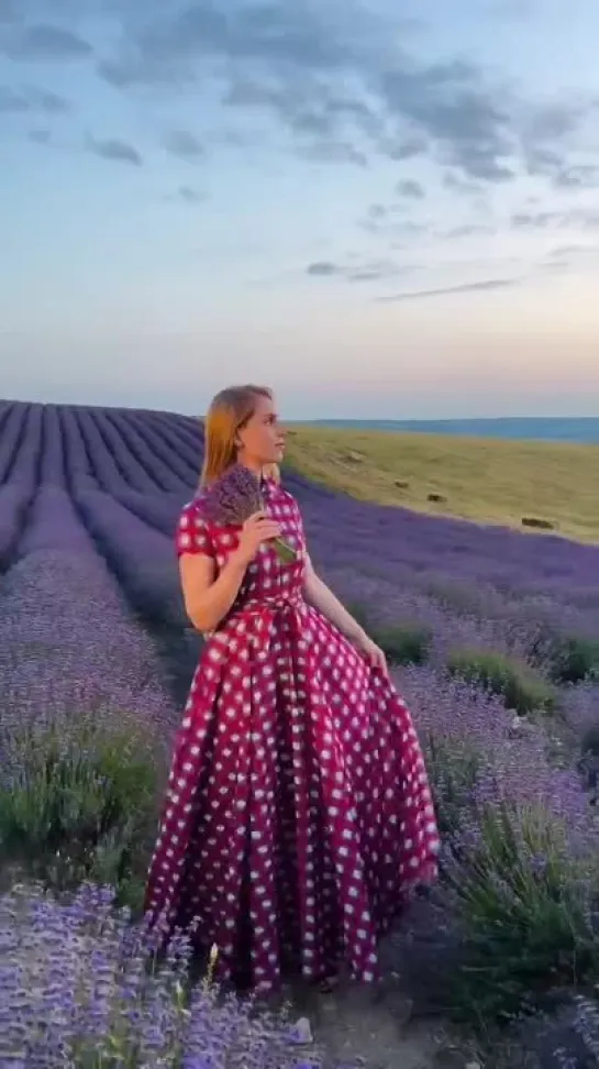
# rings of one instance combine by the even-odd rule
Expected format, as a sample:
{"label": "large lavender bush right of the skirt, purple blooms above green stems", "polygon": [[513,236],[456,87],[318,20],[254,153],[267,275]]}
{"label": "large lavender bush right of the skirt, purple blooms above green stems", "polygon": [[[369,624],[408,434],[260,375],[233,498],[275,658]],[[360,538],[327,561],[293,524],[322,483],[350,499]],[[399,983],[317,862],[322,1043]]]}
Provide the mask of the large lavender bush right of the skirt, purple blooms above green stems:
{"label": "large lavender bush right of the skirt, purple blooms above green stems", "polygon": [[599,979],[597,817],[545,723],[431,669],[398,684],[415,714],[443,833],[443,906],[463,952],[447,998],[484,1018]]}

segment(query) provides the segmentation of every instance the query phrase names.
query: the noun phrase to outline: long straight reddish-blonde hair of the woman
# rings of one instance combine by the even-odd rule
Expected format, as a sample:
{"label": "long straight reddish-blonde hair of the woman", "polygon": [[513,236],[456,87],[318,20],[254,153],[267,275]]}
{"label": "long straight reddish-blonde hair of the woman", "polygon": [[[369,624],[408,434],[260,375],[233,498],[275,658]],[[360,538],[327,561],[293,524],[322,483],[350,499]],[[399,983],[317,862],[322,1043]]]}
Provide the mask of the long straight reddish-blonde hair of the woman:
{"label": "long straight reddish-blonde hair of the woman", "polygon": [[203,421],[203,464],[200,486],[214,483],[235,463],[235,434],[252,419],[259,397],[273,399],[267,386],[228,386],[212,398]]}

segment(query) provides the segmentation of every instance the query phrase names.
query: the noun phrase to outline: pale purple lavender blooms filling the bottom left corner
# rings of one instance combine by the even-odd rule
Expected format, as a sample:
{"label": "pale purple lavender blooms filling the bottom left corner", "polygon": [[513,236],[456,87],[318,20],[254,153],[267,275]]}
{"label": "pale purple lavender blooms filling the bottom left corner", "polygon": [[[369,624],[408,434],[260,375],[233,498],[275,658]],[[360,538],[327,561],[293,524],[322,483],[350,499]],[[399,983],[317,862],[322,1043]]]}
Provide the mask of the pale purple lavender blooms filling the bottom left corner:
{"label": "pale purple lavender blooms filling the bottom left corner", "polygon": [[297,1066],[282,1017],[222,999],[210,973],[191,987],[189,944],[176,936],[158,960],[110,889],[85,885],[69,905],[36,888],[0,897],[0,945],[3,1066]]}

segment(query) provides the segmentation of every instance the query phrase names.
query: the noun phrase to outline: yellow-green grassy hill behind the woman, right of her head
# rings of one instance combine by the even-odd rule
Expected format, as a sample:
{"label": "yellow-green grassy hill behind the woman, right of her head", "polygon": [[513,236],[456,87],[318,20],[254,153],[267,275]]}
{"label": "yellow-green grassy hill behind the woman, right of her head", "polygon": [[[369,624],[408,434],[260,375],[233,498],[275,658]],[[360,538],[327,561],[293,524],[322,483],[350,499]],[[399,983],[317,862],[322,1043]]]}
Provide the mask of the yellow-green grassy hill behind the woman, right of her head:
{"label": "yellow-green grassy hill behind the woman, right of her head", "polygon": [[362,500],[599,542],[599,447],[292,427],[288,462]]}

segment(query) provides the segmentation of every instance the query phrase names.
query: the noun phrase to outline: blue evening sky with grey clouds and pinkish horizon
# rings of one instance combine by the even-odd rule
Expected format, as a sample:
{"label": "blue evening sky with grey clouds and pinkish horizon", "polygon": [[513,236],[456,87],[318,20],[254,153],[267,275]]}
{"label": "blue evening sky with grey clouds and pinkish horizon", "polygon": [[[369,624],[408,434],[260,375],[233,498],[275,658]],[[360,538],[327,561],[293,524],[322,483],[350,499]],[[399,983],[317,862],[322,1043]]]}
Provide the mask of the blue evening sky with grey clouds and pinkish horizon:
{"label": "blue evening sky with grey clouds and pinkish horizon", "polygon": [[0,393],[599,415],[597,0],[0,0]]}

